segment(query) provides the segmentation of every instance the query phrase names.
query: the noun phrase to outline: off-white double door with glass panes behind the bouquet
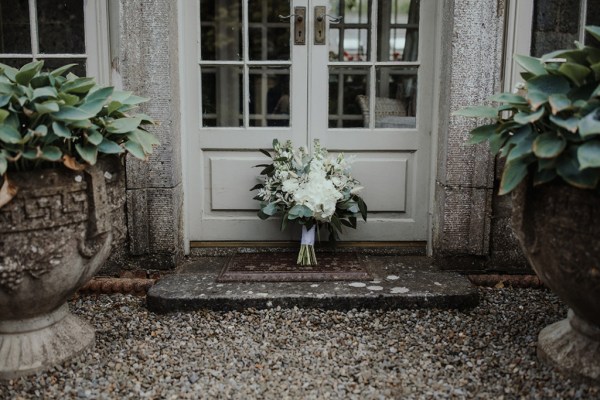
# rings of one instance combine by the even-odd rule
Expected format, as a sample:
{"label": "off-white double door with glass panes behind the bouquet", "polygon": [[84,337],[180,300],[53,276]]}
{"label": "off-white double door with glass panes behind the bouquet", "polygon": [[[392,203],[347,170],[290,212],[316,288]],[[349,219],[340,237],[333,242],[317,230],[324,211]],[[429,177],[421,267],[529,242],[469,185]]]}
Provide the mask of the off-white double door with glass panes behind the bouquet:
{"label": "off-white double door with glass panes behind the bouquet", "polygon": [[274,138],[355,156],[369,218],[342,240],[427,239],[435,0],[180,6],[190,241],[298,238],[249,191]]}

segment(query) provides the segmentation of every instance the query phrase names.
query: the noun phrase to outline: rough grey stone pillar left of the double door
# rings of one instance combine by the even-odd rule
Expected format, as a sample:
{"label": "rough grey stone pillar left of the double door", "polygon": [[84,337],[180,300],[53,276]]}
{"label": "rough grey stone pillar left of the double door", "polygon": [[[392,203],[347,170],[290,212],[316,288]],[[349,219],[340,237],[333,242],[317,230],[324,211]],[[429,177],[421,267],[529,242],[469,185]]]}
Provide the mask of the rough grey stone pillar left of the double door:
{"label": "rough grey stone pillar left of the double door", "polygon": [[147,162],[127,158],[128,257],[105,270],[174,268],[183,255],[177,2],[115,0],[110,7],[113,80],[151,99],[140,111],[158,121],[152,132],[161,145]]}

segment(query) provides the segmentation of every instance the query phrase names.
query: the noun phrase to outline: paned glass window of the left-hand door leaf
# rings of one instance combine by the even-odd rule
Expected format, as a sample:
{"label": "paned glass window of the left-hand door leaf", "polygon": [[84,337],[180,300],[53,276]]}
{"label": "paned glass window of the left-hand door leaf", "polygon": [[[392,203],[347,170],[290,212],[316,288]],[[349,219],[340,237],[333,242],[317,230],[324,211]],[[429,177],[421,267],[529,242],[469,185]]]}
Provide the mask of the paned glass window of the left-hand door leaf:
{"label": "paned glass window of the left-hand door leaf", "polygon": [[290,126],[290,0],[200,0],[202,126]]}

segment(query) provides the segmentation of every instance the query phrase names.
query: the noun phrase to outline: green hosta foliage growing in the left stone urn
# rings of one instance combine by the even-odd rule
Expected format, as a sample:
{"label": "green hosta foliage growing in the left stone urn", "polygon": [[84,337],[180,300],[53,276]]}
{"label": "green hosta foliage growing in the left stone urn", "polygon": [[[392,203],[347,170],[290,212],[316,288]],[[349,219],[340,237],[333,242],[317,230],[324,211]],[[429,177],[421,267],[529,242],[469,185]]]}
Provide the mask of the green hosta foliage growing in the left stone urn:
{"label": "green hosta foliage growing in the left stone urn", "polygon": [[69,73],[75,64],[44,71],[43,61],[0,64],[0,206],[10,200],[11,171],[64,165],[83,170],[104,155],[145,159],[158,144],[132,111],[147,101]]}

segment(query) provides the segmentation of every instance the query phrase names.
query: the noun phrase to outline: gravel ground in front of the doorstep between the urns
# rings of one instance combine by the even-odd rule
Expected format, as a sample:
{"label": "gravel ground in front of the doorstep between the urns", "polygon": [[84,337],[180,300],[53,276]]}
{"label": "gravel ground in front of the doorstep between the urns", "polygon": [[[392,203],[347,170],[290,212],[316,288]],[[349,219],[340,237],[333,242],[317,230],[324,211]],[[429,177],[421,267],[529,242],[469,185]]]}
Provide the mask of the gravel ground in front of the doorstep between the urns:
{"label": "gravel ground in front of the doorstep between the urns", "polygon": [[481,289],[468,311],[156,315],[144,299],[81,297],[72,310],[95,348],[45,373],[0,383],[4,399],[600,398],[540,364],[539,330],[566,316],[540,289]]}

